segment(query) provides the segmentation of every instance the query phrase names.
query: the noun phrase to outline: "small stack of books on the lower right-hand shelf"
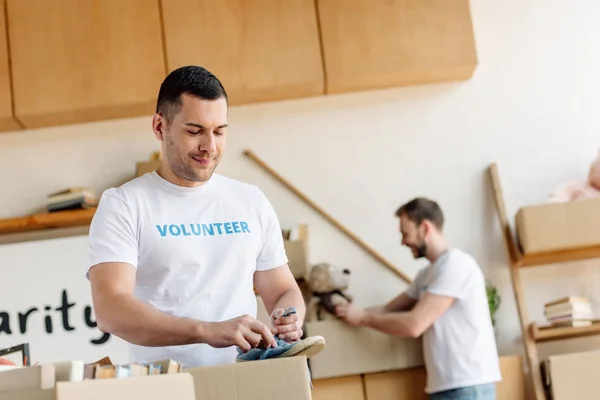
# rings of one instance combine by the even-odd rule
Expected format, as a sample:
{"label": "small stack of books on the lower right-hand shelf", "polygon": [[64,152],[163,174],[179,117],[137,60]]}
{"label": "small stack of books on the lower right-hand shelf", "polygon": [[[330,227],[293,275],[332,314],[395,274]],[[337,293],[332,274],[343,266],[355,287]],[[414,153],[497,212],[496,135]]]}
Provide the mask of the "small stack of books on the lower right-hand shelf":
{"label": "small stack of books on the lower right-hand shelf", "polygon": [[593,313],[590,301],[584,297],[565,297],[544,305],[544,315],[553,327],[589,326]]}

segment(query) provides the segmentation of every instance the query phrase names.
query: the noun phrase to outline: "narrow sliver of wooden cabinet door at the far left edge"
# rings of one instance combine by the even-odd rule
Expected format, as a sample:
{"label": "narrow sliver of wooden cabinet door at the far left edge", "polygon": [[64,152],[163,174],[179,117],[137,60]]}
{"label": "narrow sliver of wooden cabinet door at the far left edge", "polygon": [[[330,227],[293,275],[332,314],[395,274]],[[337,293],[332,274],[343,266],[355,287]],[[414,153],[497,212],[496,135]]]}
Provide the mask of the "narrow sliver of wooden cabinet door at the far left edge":
{"label": "narrow sliver of wooden cabinet door at the far left edge", "polygon": [[20,129],[12,110],[4,0],[0,0],[0,132]]}

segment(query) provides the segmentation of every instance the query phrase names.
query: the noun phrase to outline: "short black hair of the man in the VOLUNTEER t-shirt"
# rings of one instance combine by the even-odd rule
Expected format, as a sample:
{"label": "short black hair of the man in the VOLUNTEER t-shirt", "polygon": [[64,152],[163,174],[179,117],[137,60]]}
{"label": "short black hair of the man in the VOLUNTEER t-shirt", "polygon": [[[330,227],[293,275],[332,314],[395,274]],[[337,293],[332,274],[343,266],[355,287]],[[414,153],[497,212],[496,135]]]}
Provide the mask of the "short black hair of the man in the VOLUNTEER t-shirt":
{"label": "short black hair of the man in the VOLUNTEER t-shirt", "polygon": [[181,108],[181,95],[189,94],[204,100],[228,100],[221,81],[206,68],[188,65],[173,70],[160,85],[156,112],[172,121]]}

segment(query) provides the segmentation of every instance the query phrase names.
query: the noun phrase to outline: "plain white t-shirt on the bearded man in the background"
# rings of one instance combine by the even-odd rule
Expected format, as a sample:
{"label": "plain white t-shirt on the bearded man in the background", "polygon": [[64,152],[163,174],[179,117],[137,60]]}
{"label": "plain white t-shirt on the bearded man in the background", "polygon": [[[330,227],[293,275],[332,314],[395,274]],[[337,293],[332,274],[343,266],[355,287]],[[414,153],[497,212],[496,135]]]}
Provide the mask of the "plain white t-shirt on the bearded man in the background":
{"label": "plain white t-shirt on the bearded man in the background", "polygon": [[406,294],[456,298],[423,333],[427,393],[502,379],[485,278],[469,254],[450,249],[417,274]]}

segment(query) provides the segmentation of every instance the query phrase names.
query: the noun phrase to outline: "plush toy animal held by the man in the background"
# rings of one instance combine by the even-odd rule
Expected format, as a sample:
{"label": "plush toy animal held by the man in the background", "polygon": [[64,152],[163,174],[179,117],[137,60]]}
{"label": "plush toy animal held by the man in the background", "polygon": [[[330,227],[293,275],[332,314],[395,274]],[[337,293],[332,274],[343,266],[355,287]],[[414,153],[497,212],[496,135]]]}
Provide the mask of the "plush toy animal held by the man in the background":
{"label": "plush toy animal held by the man in the background", "polygon": [[329,263],[314,265],[306,280],[309,298],[306,321],[337,319],[335,307],[352,302],[346,292],[350,283],[350,271]]}

